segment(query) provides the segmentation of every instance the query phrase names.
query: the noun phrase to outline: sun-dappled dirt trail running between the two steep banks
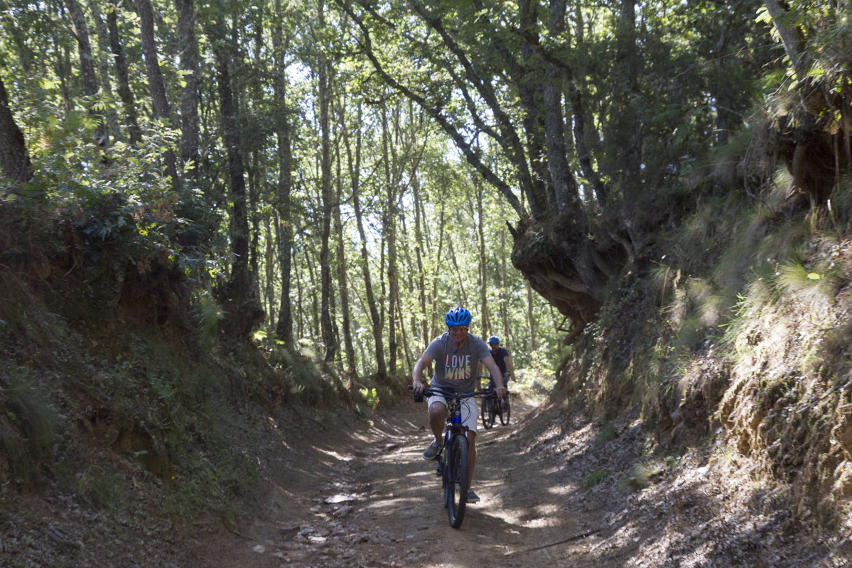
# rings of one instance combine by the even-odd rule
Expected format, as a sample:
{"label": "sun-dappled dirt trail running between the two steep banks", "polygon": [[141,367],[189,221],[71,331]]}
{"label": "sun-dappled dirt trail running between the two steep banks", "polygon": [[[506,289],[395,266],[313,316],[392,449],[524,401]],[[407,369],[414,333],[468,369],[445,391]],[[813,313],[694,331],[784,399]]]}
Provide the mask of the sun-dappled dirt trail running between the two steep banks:
{"label": "sun-dappled dirt trail running between the two steep banks", "polygon": [[567,513],[570,488],[555,484],[554,468],[531,459],[514,437],[531,410],[515,403],[509,425],[480,423],[481,502],[468,506],[459,530],[447,524],[435,463],[421,456],[429,444],[425,408],[411,404],[377,416],[366,431],[316,440],[314,456],[290,464],[295,470],[262,502],[254,524],[218,536],[202,554],[222,568],[562,564],[595,536],[526,549],[595,528],[594,518]]}

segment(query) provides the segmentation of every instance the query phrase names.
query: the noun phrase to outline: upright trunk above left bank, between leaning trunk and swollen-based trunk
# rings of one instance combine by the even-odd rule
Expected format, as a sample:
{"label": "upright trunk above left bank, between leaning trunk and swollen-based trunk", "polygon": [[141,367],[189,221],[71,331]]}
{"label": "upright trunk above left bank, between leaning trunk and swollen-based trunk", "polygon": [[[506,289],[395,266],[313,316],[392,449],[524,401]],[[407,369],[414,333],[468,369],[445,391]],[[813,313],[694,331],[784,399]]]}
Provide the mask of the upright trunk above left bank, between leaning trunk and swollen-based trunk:
{"label": "upright trunk above left bank, between leaning trunk and swollen-based trunk", "polygon": [[199,185],[199,48],[195,40],[193,0],[175,0],[177,8],[177,49],[181,58],[181,163],[187,179]]}

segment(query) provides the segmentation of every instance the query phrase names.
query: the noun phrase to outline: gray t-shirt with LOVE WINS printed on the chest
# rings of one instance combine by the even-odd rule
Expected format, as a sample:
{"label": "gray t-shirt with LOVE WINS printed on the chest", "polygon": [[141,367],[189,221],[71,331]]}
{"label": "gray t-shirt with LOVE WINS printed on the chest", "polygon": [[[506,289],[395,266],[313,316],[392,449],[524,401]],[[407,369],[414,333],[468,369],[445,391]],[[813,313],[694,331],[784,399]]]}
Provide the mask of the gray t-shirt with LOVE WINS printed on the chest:
{"label": "gray t-shirt with LOVE WINS printed on the chest", "polygon": [[452,347],[450,334],[435,337],[426,353],[435,359],[435,376],[432,386],[452,389],[456,393],[476,390],[476,368],[479,362],[491,357],[491,350],[479,337],[468,334],[461,347]]}

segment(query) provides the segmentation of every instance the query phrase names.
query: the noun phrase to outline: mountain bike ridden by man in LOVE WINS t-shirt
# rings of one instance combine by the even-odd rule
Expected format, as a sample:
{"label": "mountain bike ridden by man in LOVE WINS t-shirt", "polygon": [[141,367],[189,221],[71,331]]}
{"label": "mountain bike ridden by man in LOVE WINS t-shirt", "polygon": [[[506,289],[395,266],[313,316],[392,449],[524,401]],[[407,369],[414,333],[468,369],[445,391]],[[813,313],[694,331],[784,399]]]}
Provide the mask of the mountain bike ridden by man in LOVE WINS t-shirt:
{"label": "mountain bike ridden by man in LOVE WINS t-shirt", "polygon": [[[408,386],[409,390],[412,386]],[[458,529],[464,519],[468,504],[468,427],[463,425],[462,400],[471,397],[490,397],[493,391],[486,388],[472,393],[452,393],[438,387],[426,387],[423,393],[414,393],[415,402],[423,402],[423,395],[440,394],[446,398],[446,427],[444,445],[438,451],[438,477],[444,489],[444,507],[450,526]]]}

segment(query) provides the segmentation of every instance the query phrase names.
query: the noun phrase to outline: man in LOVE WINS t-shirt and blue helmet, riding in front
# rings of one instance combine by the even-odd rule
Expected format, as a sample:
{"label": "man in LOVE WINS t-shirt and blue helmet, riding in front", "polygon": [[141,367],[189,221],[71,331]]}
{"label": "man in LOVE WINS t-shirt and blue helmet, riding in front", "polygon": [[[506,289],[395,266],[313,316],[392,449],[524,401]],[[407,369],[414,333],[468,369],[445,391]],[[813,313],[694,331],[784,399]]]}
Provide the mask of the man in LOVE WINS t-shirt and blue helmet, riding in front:
{"label": "man in LOVE WINS t-shirt and blue helmet, riding in front", "polygon": [[[422,393],[423,370],[432,363],[435,364],[435,376],[432,377],[432,387],[439,387],[454,393],[471,393],[476,389],[479,379],[474,374],[479,369],[479,364],[484,364],[491,371],[492,376],[498,377],[497,396],[503,398],[506,389],[503,386],[503,375],[494,358],[489,352],[485,341],[468,333],[470,320],[473,316],[463,307],[453,307],[444,317],[447,331],[440,337],[436,337],[426,347],[426,351],[417,359],[412,371],[412,387],[415,393]],[[440,364],[443,362],[443,364]],[[423,459],[434,460],[438,455],[443,442],[446,398],[440,395],[429,397],[426,401],[429,409],[429,427],[435,435],[435,440],[423,452]],[[468,427],[468,499],[469,503],[479,501],[479,496],[470,489],[474,479],[474,465],[476,463],[476,403],[475,399],[463,399],[462,419],[464,426]]]}

